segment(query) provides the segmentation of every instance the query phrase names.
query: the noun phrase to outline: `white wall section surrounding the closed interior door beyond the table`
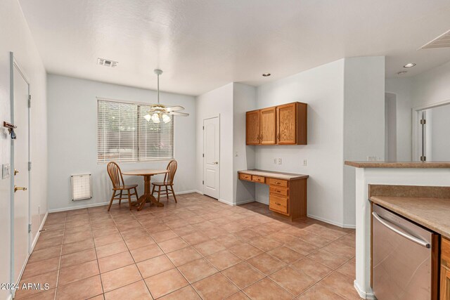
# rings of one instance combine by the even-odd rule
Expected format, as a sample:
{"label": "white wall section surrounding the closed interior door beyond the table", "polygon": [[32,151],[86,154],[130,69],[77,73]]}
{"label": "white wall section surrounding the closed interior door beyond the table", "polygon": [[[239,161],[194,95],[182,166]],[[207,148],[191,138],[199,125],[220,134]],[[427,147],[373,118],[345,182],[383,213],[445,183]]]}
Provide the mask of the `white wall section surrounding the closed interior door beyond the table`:
{"label": "white wall section surrounding the closed interior door beyond the table", "polygon": [[233,204],[233,83],[198,96],[195,115],[197,190],[203,193],[203,120],[220,115],[219,200]]}

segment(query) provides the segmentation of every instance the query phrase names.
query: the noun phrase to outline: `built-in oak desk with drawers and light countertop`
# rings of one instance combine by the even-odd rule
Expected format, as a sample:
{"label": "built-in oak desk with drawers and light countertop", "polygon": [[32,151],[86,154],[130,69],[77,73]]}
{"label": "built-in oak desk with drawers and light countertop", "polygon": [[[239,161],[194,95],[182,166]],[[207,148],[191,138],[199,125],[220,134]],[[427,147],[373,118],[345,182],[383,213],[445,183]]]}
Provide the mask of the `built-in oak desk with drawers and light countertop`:
{"label": "built-in oak desk with drawers and light countertop", "polygon": [[264,170],[238,171],[239,179],[269,185],[269,209],[291,221],[307,216],[308,175]]}

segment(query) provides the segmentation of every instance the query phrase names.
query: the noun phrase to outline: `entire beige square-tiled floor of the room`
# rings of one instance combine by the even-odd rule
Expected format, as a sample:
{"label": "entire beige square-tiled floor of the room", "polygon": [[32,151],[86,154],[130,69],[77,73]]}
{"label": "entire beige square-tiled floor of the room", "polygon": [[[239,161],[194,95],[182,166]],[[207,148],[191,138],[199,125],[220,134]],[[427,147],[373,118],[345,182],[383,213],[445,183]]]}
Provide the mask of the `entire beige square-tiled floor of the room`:
{"label": "entire beige square-tiled floor of the room", "polygon": [[359,299],[354,230],[289,223],[264,204],[197,193],[178,204],[49,214],[15,299]]}

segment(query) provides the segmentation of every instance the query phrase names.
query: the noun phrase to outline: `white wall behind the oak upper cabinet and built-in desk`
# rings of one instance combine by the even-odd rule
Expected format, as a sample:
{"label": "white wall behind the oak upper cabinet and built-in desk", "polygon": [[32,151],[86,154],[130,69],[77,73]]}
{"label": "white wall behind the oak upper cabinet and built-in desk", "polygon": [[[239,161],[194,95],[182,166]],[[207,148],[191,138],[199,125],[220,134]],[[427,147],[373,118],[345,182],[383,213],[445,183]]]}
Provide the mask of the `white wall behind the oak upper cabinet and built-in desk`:
{"label": "white wall behind the oak upper cabinet and built-in desk", "polygon": [[[309,174],[308,215],[343,223],[344,67],[337,60],[257,88],[257,108],[308,103],[308,145],[255,146],[256,167]],[[274,158],[282,164],[274,164]],[[303,167],[307,159],[307,167]],[[256,187],[257,201],[269,203],[269,188]]]}

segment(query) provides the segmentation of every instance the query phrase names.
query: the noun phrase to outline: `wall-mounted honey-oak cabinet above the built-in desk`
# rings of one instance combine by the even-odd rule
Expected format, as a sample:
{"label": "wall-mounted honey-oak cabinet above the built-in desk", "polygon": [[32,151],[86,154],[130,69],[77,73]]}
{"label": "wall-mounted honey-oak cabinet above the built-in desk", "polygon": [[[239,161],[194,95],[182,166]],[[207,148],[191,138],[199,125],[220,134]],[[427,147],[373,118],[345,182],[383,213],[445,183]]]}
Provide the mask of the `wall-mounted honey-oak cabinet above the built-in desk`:
{"label": "wall-mounted honey-oak cabinet above the built-in desk", "polygon": [[307,103],[252,110],[246,118],[247,145],[307,145]]}

